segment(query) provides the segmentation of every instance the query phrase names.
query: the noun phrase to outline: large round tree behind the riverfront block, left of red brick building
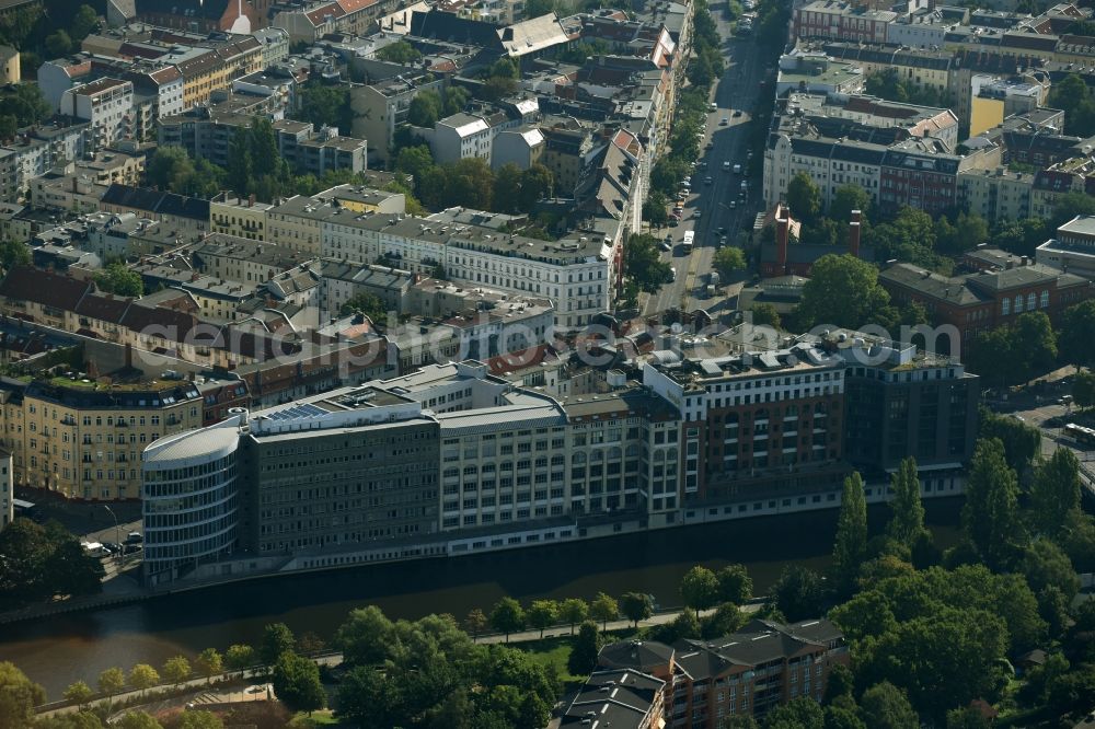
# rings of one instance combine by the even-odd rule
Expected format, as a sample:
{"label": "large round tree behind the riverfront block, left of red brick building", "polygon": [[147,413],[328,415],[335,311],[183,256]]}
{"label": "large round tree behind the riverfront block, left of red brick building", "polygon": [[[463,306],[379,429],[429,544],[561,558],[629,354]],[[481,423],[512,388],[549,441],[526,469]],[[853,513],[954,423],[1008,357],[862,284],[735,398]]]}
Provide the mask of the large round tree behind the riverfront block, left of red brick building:
{"label": "large round tree behind the riverfront block, left of red brick building", "polygon": [[877,268],[855,256],[829,254],[814,264],[797,316],[805,328],[821,324],[858,328],[877,322],[878,312],[889,308]]}

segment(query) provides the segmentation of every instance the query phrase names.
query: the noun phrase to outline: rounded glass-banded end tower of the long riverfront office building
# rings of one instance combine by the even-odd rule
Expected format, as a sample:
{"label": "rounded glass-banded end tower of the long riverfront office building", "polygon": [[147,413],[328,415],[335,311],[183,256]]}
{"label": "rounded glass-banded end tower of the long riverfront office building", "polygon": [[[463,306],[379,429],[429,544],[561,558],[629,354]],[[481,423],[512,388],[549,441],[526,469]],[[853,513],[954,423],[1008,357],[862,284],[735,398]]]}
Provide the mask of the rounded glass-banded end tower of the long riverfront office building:
{"label": "rounded glass-banded end tower of the long riverfront office building", "polygon": [[240,428],[246,410],[215,426],[162,438],[142,455],[145,578],[184,577],[237,547]]}

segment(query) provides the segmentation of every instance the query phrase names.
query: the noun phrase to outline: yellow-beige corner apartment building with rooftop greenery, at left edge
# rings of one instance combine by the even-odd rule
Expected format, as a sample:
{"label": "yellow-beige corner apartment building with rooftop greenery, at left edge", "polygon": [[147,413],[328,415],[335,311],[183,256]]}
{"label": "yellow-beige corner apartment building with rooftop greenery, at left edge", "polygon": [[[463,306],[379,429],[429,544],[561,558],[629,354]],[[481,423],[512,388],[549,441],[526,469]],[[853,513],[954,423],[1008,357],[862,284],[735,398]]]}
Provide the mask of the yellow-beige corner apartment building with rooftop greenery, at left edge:
{"label": "yellow-beige corner apartment building with rooftop greenery, at left edge", "polygon": [[140,498],[141,451],[201,427],[201,410],[191,382],[0,381],[0,440],[14,484],[70,499]]}

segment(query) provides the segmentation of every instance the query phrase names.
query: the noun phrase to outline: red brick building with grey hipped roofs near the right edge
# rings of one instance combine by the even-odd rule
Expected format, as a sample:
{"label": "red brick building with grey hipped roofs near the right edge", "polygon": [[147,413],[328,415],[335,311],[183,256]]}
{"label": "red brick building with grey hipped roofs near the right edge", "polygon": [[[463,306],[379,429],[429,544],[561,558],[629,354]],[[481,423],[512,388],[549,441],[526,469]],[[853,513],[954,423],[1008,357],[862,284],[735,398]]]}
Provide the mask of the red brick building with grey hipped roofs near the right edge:
{"label": "red brick building with grey hipped roofs near the right edge", "polygon": [[878,281],[895,303],[920,302],[933,322],[953,324],[964,342],[1011,324],[1024,312],[1045,312],[1056,321],[1069,306],[1095,296],[1095,286],[1085,278],[1022,261],[950,277],[895,264],[878,275]]}

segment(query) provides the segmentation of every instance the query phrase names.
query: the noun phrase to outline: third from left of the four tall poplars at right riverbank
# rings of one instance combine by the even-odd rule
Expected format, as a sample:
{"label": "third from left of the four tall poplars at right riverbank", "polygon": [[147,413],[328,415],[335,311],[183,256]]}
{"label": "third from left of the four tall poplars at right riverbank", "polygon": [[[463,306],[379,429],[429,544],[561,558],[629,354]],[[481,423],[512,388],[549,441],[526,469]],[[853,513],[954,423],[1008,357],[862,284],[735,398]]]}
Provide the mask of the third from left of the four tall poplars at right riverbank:
{"label": "third from left of the four tall poplars at right riverbank", "polygon": [[1018,514],[1018,483],[996,439],[977,442],[966,483],[963,530],[984,563],[1002,569],[1024,539]]}

